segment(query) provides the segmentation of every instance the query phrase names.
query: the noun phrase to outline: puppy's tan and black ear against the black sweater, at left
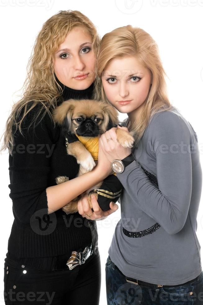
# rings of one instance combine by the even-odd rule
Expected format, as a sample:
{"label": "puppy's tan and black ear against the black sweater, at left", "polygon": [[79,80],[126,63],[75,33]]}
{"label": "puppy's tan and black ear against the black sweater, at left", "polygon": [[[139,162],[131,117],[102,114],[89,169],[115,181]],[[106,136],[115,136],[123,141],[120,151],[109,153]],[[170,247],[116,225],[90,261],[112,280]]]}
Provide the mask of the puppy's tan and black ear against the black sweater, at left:
{"label": "puppy's tan and black ear against the black sweater, at left", "polygon": [[72,127],[72,113],[75,109],[74,100],[70,99],[63,101],[60,106],[53,110],[54,121],[61,126],[63,135],[71,131]]}

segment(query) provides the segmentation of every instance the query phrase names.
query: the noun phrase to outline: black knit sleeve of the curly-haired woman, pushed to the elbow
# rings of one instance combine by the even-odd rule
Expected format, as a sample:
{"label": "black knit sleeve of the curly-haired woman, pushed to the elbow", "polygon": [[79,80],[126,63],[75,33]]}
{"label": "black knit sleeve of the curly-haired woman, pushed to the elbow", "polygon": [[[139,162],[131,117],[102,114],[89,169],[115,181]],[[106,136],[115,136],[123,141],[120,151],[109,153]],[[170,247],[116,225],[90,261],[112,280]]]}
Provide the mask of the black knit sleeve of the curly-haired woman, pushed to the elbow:
{"label": "black knit sleeve of the curly-haired woman, pushed to the elbow", "polygon": [[[36,110],[39,109],[36,107]],[[22,223],[30,223],[32,215],[42,210],[48,212],[46,187],[50,171],[50,157],[54,149],[51,136],[51,119],[46,113],[41,122],[27,130],[32,115],[23,121],[23,134],[16,131],[13,156],[9,154],[10,198],[14,217]],[[46,212],[46,213],[47,213]]]}

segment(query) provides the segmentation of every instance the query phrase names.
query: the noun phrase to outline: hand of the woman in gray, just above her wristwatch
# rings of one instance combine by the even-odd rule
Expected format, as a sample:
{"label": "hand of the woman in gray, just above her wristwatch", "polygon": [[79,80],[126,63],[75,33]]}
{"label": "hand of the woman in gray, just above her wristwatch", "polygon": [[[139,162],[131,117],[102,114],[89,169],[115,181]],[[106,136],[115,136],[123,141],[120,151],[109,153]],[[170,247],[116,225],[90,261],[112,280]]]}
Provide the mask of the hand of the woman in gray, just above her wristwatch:
{"label": "hand of the woman in gray, just above her wristwatch", "polygon": [[[118,125],[118,128],[121,128],[121,129],[129,132],[127,127],[120,127]],[[108,161],[110,163],[115,159],[122,160],[125,157],[129,156],[131,153],[131,148],[129,148],[129,147],[124,148],[117,141],[116,129],[117,129],[116,127],[109,129],[104,134],[102,134],[99,138],[99,149],[102,148],[102,151],[105,154],[105,157],[108,159]],[[108,138],[112,138],[112,140],[107,141]],[[99,162],[100,162],[100,160],[99,160],[99,156],[98,156],[98,163]],[[102,161],[101,161],[101,163],[102,163]]]}

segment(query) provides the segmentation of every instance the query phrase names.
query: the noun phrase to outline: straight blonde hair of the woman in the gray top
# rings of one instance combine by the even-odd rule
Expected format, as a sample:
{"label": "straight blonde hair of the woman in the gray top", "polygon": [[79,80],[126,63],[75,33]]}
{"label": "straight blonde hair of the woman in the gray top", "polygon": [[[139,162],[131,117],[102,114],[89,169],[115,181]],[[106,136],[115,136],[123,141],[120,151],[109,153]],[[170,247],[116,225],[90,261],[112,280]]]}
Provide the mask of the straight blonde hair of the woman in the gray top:
{"label": "straight blonde hair of the woman in the gray top", "polygon": [[164,76],[167,76],[155,40],[139,27],[131,25],[119,27],[106,33],[100,43],[96,64],[95,98],[108,102],[102,86],[101,76],[108,64],[115,58],[135,56],[141,65],[149,68],[153,77],[152,85],[138,122],[130,126],[135,145],[141,139],[147,124],[156,112],[170,110],[177,114],[169,99]]}

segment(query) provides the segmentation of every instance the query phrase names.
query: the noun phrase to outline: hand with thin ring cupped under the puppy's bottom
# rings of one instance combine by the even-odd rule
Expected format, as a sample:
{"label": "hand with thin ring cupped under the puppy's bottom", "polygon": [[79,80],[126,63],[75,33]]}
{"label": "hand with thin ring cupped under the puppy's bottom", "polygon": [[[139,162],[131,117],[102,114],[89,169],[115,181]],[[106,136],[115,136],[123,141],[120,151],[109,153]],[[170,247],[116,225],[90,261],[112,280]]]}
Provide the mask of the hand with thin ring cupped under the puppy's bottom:
{"label": "hand with thin ring cupped under the puppy's bottom", "polygon": [[[93,198],[92,198],[93,196]],[[95,197],[95,195],[91,195],[91,203],[92,207],[94,209],[94,212],[92,212],[92,209],[90,209],[89,202],[87,199],[87,196],[80,199],[77,203],[78,212],[82,217],[85,217],[87,219],[91,220],[103,220],[108,215],[112,214],[116,210],[118,210],[118,204],[115,204],[113,201],[110,203],[110,209],[108,211],[102,211],[102,209],[99,207],[98,201]],[[91,215],[91,216],[88,216]]]}

